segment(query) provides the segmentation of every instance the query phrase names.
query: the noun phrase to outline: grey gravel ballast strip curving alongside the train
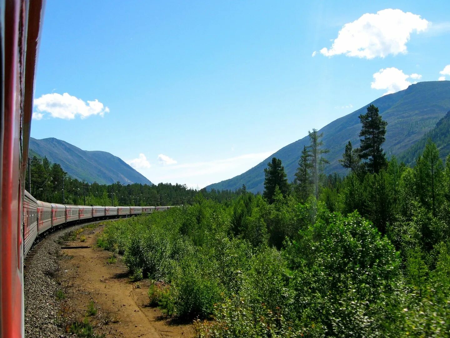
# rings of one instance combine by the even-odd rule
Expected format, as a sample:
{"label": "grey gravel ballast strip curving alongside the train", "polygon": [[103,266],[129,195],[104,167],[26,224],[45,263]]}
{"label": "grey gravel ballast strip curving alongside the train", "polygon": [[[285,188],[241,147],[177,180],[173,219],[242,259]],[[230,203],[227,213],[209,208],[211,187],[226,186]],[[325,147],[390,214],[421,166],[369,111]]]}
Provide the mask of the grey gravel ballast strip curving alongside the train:
{"label": "grey gravel ballast strip curving alongside the train", "polygon": [[61,246],[58,239],[85,224],[59,230],[37,243],[25,257],[25,337],[73,337],[58,327],[60,302],[56,292],[61,289],[55,278],[59,270]]}

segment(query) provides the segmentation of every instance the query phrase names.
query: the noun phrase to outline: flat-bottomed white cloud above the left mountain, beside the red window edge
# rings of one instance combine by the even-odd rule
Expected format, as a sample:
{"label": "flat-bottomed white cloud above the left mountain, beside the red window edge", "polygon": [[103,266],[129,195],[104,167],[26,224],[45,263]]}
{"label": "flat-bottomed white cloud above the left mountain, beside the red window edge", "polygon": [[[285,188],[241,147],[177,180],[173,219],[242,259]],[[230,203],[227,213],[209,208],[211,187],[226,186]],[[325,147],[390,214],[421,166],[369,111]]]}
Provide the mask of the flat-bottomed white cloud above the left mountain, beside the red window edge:
{"label": "flat-bottomed white cloud above the left mountain, beside the red window edge", "polygon": [[39,115],[40,118],[50,114],[51,117],[59,119],[71,120],[75,119],[77,115],[80,115],[81,119],[85,119],[90,115],[103,117],[105,113],[109,113],[109,108],[105,107],[97,99],[87,101],[86,104],[85,101],[68,93],[63,95],[58,93],[42,95],[34,100],[34,106],[37,110],[36,114],[41,114]]}

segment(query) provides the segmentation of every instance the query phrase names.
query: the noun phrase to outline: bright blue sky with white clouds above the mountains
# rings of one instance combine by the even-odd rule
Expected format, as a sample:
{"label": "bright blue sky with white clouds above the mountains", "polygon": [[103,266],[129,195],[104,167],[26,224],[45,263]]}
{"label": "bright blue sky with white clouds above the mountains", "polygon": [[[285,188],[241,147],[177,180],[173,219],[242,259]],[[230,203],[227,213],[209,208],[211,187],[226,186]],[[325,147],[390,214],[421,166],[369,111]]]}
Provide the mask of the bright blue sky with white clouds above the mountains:
{"label": "bright blue sky with white clouds above the mountains", "polygon": [[450,1],[47,0],[31,136],[201,188],[385,93],[450,80],[448,13]]}

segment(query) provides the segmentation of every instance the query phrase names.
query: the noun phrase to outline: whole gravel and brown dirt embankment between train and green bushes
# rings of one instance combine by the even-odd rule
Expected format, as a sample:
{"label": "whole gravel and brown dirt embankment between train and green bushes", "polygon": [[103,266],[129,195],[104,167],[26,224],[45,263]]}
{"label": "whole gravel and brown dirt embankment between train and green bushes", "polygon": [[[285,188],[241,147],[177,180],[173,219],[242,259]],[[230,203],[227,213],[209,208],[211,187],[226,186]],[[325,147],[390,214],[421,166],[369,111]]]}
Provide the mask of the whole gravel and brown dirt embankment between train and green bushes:
{"label": "whole gravel and brown dirt embankment between train and green bushes", "polygon": [[149,281],[131,282],[121,258],[96,246],[102,223],[63,229],[30,251],[25,268],[26,336],[192,336],[191,324],[175,323],[148,306]]}

